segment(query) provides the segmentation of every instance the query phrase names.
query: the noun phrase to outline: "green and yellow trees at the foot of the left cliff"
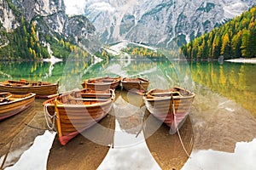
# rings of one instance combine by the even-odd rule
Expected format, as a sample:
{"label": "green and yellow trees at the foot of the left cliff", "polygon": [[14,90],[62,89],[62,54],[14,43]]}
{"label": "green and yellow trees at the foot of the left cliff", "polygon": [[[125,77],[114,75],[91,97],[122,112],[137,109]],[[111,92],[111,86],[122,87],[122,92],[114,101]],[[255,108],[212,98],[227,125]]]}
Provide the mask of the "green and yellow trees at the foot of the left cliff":
{"label": "green and yellow trees at the foot of the left cliff", "polygon": [[29,24],[22,17],[20,26],[13,32],[4,32],[9,42],[3,48],[0,48],[0,59],[46,59],[49,58],[49,51],[46,43],[51,44],[53,55],[60,59],[66,59],[71,52],[86,57],[87,53],[79,46],[68,41],[60,41],[51,36],[44,37],[45,44],[39,41],[38,26],[32,21]]}

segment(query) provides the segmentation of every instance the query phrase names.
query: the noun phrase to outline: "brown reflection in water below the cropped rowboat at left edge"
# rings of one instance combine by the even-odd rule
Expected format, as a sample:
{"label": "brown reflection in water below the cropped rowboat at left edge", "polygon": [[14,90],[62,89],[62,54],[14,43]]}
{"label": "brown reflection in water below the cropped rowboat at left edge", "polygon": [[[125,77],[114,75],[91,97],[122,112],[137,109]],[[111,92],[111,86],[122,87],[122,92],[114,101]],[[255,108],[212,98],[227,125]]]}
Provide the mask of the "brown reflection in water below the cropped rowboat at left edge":
{"label": "brown reflection in water below the cropped rowboat at left edge", "polygon": [[25,111],[0,122],[1,169],[14,165],[34,139],[44,133],[44,115],[38,110],[41,105],[36,99],[34,105]]}

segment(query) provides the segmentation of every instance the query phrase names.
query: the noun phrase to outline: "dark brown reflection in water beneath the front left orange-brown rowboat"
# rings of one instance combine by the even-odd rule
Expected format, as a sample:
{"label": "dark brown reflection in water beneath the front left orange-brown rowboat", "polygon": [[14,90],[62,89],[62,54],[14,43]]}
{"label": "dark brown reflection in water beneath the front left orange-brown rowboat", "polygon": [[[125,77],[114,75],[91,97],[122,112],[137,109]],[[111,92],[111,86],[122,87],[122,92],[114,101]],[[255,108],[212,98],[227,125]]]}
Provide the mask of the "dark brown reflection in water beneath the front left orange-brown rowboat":
{"label": "dark brown reflection in water beneath the front left orange-brown rowboat", "polygon": [[[114,126],[114,117],[108,115],[65,146],[55,137],[49,151],[47,169],[96,169],[113,144]],[[109,129],[108,133],[103,133],[104,127]]]}

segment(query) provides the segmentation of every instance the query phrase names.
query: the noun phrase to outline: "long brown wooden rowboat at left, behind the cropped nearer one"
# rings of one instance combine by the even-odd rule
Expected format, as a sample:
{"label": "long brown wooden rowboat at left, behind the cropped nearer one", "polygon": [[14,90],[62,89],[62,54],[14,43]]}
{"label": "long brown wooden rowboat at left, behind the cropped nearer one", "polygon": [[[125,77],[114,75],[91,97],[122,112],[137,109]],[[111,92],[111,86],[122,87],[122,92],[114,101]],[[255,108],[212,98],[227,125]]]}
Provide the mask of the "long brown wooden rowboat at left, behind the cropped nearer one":
{"label": "long brown wooden rowboat at left, behind the cropped nearer one", "polygon": [[35,82],[20,79],[20,81],[7,80],[0,82],[0,92],[10,92],[12,94],[36,94],[36,98],[47,98],[52,94],[57,94],[59,83]]}

